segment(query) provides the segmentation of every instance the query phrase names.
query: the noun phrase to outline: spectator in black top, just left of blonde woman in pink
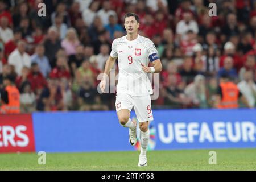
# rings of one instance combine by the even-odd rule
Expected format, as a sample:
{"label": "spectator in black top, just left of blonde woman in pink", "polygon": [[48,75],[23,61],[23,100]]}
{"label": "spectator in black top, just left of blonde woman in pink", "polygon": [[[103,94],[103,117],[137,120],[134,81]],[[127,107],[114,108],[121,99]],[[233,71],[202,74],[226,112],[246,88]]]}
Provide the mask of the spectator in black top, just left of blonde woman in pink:
{"label": "spectator in black top, just left of blonde woman in pink", "polygon": [[55,54],[61,48],[59,35],[56,28],[51,27],[48,29],[47,38],[44,42],[44,48],[46,50],[45,54],[49,59],[51,67],[55,67]]}

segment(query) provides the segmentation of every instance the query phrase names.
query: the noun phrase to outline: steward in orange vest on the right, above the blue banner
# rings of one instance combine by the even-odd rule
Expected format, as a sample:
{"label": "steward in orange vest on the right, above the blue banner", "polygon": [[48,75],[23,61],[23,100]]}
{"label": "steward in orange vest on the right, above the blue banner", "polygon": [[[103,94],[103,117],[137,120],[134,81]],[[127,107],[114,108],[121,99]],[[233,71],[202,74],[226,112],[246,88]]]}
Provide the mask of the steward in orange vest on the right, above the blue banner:
{"label": "steward in orange vest on the right, above the blue banner", "polygon": [[240,98],[246,107],[250,107],[237,85],[230,81],[226,73],[223,73],[220,78],[220,85],[217,89],[214,107],[218,109],[236,109],[239,107],[238,101]]}

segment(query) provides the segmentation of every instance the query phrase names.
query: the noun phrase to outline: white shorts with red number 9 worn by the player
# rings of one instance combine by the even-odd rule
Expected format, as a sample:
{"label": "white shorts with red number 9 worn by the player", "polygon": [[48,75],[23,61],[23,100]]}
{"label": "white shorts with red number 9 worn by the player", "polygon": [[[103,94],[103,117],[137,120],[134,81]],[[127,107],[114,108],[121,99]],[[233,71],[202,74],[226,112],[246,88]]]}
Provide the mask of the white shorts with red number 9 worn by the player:
{"label": "white shorts with red number 9 worn by the player", "polygon": [[135,114],[139,122],[152,121],[153,113],[151,110],[151,97],[147,96],[131,96],[126,93],[118,93],[115,101],[115,109],[117,112],[121,109],[135,110]]}

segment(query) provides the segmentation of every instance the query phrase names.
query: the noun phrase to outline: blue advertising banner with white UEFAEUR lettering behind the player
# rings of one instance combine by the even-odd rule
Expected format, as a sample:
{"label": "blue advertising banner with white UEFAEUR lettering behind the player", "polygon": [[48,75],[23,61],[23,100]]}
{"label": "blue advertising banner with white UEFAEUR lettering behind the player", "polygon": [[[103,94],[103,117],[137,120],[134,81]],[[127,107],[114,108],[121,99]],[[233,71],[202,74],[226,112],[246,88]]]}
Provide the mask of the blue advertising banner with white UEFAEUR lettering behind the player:
{"label": "blue advertising banner with white UEFAEUR lettering behind the player", "polygon": [[[154,110],[148,150],[256,147],[256,110]],[[33,113],[36,151],[138,150],[115,111]],[[135,118],[134,112],[131,118]],[[137,128],[139,136],[139,128]],[[139,137],[138,137],[139,139]]]}

